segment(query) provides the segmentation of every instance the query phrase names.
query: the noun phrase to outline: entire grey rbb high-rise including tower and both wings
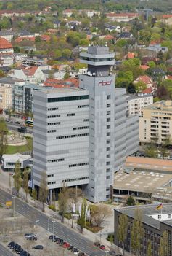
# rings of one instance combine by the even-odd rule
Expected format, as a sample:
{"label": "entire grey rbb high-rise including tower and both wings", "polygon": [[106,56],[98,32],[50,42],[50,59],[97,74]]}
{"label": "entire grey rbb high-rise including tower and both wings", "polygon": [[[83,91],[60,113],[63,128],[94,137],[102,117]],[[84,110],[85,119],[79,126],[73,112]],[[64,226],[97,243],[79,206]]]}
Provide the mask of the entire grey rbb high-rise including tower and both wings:
{"label": "entire grey rbb high-rise including tower and both wings", "polygon": [[34,93],[33,184],[46,171],[49,190],[64,181],[82,185],[90,201],[106,201],[114,172],[138,150],[139,118],[126,117],[126,89],[115,88],[108,47],[89,47],[81,62],[88,71],[79,89]]}

